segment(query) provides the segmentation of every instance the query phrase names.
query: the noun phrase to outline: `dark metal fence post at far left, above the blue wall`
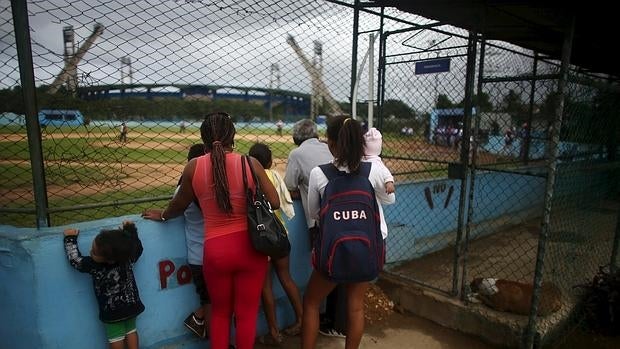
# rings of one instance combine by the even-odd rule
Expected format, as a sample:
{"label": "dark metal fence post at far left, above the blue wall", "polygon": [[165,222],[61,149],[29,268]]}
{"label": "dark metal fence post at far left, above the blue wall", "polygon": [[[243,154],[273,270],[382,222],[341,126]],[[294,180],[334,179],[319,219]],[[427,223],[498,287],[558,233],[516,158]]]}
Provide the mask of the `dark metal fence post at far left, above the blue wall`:
{"label": "dark metal fence post at far left, above the blue wall", "polygon": [[24,97],[24,112],[26,115],[26,131],[28,134],[28,149],[32,166],[32,183],[37,214],[37,228],[49,226],[47,211],[47,188],[45,184],[45,166],[43,164],[43,147],[41,144],[41,128],[37,112],[36,88],[34,84],[34,70],[32,51],[30,47],[30,25],[28,24],[28,8],[26,0],[11,0],[13,12],[13,26],[15,29],[15,44],[19,61],[19,75]]}

